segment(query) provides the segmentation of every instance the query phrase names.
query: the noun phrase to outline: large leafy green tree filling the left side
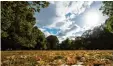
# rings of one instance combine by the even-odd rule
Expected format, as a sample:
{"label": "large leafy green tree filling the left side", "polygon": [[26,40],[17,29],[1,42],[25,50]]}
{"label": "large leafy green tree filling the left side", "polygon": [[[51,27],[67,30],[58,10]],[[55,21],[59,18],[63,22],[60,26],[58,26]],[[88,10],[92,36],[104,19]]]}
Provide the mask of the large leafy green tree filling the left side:
{"label": "large leafy green tree filling the left side", "polygon": [[[42,32],[38,30],[37,33],[34,32],[36,19],[33,15],[48,5],[49,3],[45,1],[1,2],[2,47],[7,46],[8,48],[11,45],[10,48],[13,49],[22,46],[34,48],[37,44],[37,37],[39,37],[37,34]],[[15,46],[16,48],[14,48]]]}

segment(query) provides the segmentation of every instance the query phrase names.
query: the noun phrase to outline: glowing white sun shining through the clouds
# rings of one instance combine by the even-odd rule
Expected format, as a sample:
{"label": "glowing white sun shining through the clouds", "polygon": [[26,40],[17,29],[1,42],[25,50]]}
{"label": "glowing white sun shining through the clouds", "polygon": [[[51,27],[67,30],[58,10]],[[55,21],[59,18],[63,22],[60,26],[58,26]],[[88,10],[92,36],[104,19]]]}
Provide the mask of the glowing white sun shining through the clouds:
{"label": "glowing white sun shining through the clouds", "polygon": [[88,26],[95,26],[99,23],[99,14],[98,12],[87,12],[85,14],[85,23],[88,25]]}

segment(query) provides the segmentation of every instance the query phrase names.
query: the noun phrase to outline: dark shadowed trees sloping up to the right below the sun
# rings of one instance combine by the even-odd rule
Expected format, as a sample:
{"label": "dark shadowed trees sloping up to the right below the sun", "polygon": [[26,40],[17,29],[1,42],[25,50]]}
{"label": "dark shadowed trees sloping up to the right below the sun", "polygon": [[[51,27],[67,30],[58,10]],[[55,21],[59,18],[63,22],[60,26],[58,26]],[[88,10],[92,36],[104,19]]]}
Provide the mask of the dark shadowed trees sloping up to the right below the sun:
{"label": "dark shadowed trees sloping up to the right below the sun", "polygon": [[111,47],[113,34],[106,29],[105,24],[84,32],[82,37],[84,37],[84,47],[87,49],[113,49]]}

